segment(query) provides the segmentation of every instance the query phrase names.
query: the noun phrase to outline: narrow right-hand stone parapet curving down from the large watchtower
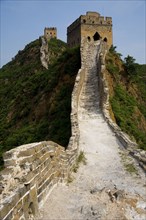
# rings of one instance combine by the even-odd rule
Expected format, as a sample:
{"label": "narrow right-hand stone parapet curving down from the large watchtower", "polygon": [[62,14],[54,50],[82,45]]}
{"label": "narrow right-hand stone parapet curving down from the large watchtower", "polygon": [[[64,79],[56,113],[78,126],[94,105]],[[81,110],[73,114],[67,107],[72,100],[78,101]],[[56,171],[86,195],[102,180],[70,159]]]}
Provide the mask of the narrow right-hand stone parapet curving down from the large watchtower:
{"label": "narrow right-hand stone parapet curving down from the large watchtower", "polygon": [[100,54],[100,62],[98,64],[99,69],[99,88],[100,88],[100,104],[102,108],[102,112],[105,120],[115,133],[118,140],[121,144],[129,151],[129,154],[132,155],[139,163],[139,165],[146,171],[146,151],[140,150],[137,148],[137,143],[132,141],[130,137],[124,133],[120,127],[113,122],[110,117],[110,103],[109,103],[109,87],[108,81],[106,80],[106,68],[105,68],[105,56],[108,51],[106,47],[106,43],[102,43],[101,45],[101,54]]}

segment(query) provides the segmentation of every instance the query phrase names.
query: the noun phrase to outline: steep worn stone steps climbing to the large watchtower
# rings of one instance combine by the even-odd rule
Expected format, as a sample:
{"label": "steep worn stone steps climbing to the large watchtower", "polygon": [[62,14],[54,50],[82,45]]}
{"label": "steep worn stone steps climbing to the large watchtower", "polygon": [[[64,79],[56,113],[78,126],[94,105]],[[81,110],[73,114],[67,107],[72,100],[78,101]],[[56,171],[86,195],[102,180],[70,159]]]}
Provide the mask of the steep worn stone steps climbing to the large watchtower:
{"label": "steep worn stone steps climbing to the large watchtower", "polygon": [[84,117],[93,117],[99,110],[98,78],[97,78],[97,53],[98,46],[89,45],[84,48],[84,65],[86,76],[80,95],[80,110]]}

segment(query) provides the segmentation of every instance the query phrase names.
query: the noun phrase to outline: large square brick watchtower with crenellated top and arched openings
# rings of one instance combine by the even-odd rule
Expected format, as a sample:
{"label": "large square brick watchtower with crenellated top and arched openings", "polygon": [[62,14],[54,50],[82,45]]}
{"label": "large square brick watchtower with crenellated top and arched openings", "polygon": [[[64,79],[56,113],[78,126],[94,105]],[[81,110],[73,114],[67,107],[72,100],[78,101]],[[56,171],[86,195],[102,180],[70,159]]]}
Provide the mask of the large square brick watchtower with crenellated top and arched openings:
{"label": "large square brick watchtower with crenellated top and arched openings", "polygon": [[110,47],[112,39],[112,18],[100,16],[97,12],[87,12],[81,15],[67,28],[67,43],[69,47],[81,44],[82,38],[90,40],[103,39]]}

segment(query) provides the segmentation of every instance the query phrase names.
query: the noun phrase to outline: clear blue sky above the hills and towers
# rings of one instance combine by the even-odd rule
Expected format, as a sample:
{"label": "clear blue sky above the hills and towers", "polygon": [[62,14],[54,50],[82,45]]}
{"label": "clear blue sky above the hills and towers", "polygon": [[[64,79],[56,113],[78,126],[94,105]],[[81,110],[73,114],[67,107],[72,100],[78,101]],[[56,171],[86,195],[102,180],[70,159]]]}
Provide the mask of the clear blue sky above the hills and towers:
{"label": "clear blue sky above the hills and towers", "polygon": [[0,0],[0,67],[45,27],[57,27],[57,37],[66,42],[67,27],[87,11],[112,17],[113,45],[123,59],[130,55],[146,63],[145,0]]}

